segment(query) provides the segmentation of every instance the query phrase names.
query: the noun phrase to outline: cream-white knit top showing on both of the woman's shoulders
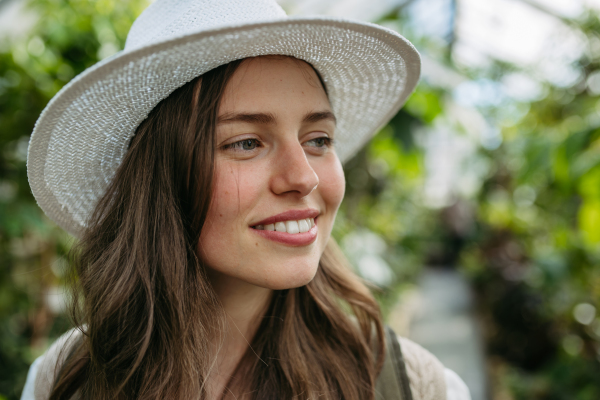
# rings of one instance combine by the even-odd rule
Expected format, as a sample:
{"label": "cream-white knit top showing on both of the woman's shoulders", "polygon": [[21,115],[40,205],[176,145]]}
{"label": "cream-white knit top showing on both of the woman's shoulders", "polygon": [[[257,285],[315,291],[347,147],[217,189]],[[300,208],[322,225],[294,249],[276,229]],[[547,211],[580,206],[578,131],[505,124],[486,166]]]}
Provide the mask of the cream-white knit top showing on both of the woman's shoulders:
{"label": "cream-white knit top showing on both of the woman's shoulders", "polygon": [[[55,381],[56,366],[62,365],[68,349],[81,332],[73,329],[61,336],[36,359],[27,375],[21,400],[47,400]],[[454,372],[445,369],[430,352],[399,337],[413,400],[471,400],[469,389]]]}

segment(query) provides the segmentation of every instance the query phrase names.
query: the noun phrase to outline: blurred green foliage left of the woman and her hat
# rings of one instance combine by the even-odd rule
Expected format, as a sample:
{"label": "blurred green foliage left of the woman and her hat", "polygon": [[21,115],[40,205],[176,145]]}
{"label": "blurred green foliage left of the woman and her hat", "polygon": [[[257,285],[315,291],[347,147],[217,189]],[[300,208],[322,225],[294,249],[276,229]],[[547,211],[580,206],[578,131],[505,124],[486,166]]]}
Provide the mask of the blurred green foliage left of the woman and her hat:
{"label": "blurred green foliage left of the woman and her hat", "polygon": [[17,399],[29,364],[68,326],[60,307],[71,239],[27,183],[29,135],[46,103],[78,73],[123,47],[142,0],[37,0],[26,37],[0,43],[0,398]]}

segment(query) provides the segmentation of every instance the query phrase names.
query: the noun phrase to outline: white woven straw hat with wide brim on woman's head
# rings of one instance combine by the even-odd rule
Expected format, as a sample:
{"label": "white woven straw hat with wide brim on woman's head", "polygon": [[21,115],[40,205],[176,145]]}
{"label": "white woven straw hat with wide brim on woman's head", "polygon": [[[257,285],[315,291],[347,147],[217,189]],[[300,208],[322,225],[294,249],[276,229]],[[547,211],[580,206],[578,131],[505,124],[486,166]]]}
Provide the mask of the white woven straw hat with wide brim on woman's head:
{"label": "white woven straw hat with wide brim on woman's head", "polygon": [[219,65],[269,54],[319,71],[342,162],[394,116],[420,72],[414,47],[378,25],[288,18],[275,0],[157,0],[131,27],[125,49],[75,77],[38,119],[27,172],[42,210],[78,236],[161,100]]}

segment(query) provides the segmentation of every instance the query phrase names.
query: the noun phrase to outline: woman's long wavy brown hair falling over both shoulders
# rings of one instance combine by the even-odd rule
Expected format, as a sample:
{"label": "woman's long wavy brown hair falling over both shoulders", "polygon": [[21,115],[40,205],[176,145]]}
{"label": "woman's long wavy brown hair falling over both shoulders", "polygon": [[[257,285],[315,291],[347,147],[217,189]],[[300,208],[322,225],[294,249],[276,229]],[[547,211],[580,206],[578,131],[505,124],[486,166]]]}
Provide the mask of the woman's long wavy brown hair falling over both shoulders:
{"label": "woman's long wavy brown hair falling over both shoulders", "polygon": [[[72,310],[83,335],[52,400],[77,391],[207,397],[209,338],[225,318],[196,247],[212,196],[218,107],[241,62],[177,89],[138,127],[73,253]],[[374,398],[379,307],[333,240],[308,285],[273,294],[250,347],[235,374],[245,399]]]}

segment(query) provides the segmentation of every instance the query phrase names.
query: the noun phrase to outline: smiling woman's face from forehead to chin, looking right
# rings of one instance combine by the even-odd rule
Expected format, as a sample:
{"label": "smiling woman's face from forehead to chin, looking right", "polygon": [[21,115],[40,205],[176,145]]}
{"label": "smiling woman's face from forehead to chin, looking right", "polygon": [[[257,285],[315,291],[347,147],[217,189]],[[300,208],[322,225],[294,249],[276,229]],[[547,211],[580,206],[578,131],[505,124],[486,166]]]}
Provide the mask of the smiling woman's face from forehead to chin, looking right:
{"label": "smiling woman's face from forehead to chin, looking right", "polygon": [[312,280],[344,196],[334,135],[310,65],[289,57],[240,65],[220,105],[198,248],[213,281],[288,289]]}

